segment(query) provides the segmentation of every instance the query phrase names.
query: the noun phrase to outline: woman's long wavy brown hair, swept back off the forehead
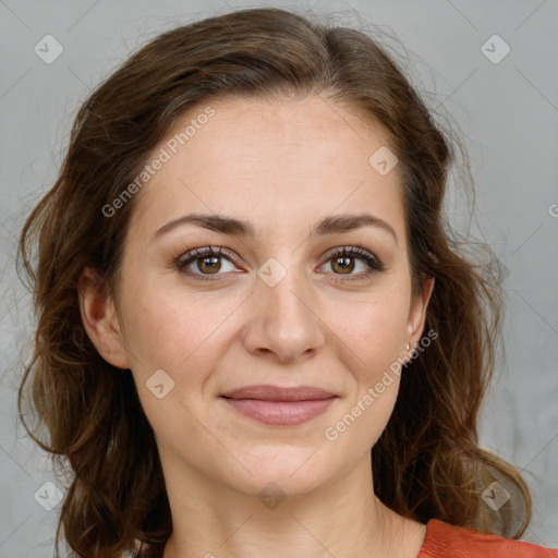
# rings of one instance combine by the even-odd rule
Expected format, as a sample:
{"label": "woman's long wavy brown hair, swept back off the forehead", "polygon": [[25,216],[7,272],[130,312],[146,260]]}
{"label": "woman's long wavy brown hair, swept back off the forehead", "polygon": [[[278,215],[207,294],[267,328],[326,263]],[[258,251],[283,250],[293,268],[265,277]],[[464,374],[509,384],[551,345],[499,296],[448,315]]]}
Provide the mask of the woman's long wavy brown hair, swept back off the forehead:
{"label": "woman's long wavy brown hair, swept back off the forehead", "polygon": [[[108,364],[87,337],[77,281],[88,266],[118,296],[126,228],[141,193],[110,218],[104,206],[134,180],[184,111],[231,95],[320,95],[389,133],[403,177],[413,292],[423,275],[436,279],[425,329],[438,339],[401,376],[393,413],[372,449],[375,492],[423,523],[437,518],[514,537],[524,531],[531,515],[524,481],[477,444],[477,412],[501,342],[502,291],[494,266],[478,260],[482,248],[492,254],[488,246],[463,240],[445,215],[459,154],[462,183],[473,187],[466,151],[435,122],[396,58],[373,33],[279,9],[242,10],[162,33],[82,105],[58,179],[28,216],[19,246],[37,319],[19,413],[70,477],[57,554],[61,526],[75,556],[86,557],[134,548],[147,556],[171,533],[154,432],[131,371]],[[25,422],[24,403],[34,426]],[[512,493],[498,512],[481,498],[494,481]]]}

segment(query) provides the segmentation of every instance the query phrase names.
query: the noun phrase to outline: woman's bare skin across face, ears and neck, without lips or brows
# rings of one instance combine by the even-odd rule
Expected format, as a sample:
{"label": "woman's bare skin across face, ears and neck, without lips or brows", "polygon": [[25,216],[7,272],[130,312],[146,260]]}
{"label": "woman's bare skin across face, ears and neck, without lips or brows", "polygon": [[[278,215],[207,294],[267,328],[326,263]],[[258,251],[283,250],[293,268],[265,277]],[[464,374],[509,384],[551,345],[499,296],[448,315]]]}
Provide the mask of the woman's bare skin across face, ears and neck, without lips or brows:
{"label": "woman's bare skin across face, ears and neck, without lips or brows", "polygon": [[[380,175],[368,162],[389,138],[320,96],[211,106],[215,116],[136,194],[118,299],[88,269],[81,278],[86,330],[108,362],[132,371],[156,434],[173,522],[165,558],[415,557],[425,526],[381,505],[371,474],[397,375],[336,440],[324,435],[410,356],[434,287],[427,278],[411,295],[399,167]],[[308,238],[324,217],[363,210],[397,242],[377,227]],[[153,240],[194,211],[251,221],[255,236],[187,225]],[[209,245],[234,262],[221,258],[215,275],[202,257],[189,266],[197,276],[180,272],[177,258]],[[347,275],[325,257],[354,245],[386,270],[366,276],[357,256]],[[275,287],[257,275],[270,257],[287,271]],[[214,280],[196,280],[204,272]],[[146,387],[157,369],[174,381],[161,399]],[[252,384],[311,385],[338,398],[306,423],[268,426],[219,399]],[[284,496],[272,509],[258,498],[271,482]]]}

